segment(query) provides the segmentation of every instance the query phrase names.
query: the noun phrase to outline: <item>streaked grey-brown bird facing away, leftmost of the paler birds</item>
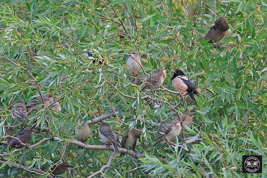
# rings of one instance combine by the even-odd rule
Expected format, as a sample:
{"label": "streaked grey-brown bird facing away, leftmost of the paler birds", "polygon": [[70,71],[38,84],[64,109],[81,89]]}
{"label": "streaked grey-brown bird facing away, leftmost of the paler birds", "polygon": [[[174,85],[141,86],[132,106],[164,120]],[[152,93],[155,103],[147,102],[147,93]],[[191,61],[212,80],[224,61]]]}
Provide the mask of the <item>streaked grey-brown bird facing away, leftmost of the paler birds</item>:
{"label": "streaked grey-brown bird facing away, leftmost of the paler birds", "polygon": [[12,117],[14,119],[28,120],[27,118],[27,109],[23,101],[18,100],[12,107]]}

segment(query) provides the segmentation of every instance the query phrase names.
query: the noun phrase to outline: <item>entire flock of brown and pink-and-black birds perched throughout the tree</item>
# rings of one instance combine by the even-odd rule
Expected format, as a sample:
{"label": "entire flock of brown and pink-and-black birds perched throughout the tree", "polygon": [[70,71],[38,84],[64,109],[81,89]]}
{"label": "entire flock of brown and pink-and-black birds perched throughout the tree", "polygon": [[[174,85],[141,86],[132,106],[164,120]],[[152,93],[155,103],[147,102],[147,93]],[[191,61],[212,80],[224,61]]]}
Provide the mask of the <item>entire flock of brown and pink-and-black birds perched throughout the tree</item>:
{"label": "entire flock of brown and pink-and-black birds perched throughout the tree", "polygon": [[[214,26],[210,28],[204,38],[205,40],[209,40],[208,42],[212,43],[214,47],[216,47],[216,43],[225,36],[225,32],[228,29],[229,27],[225,17],[221,16],[220,18],[218,18],[218,20],[215,21]],[[139,76],[139,72],[141,71],[141,69],[143,69],[142,59],[139,52],[133,50],[129,53],[129,55],[130,56],[126,62],[126,66],[130,74],[129,77],[131,78],[131,83],[141,84],[142,92],[145,92],[147,89],[151,89],[151,92],[153,92],[163,84],[166,78],[166,72],[168,71],[166,67],[158,67],[155,70],[152,69],[151,74],[149,74],[146,78],[142,78],[141,76]],[[92,59],[93,63],[104,65],[103,60],[94,58],[92,52],[87,52],[85,54],[85,57]],[[184,74],[182,70],[176,69],[173,72],[174,73],[171,77],[171,82],[175,91],[181,93],[182,99],[185,97],[185,95],[189,95],[197,105],[195,96],[201,97],[201,95],[196,86],[191,82],[191,80]],[[142,83],[140,83],[141,80],[143,81]],[[49,106],[49,109],[57,114],[61,112],[61,105],[52,93],[48,92],[44,95],[42,95],[41,93],[39,94],[39,97],[31,100],[26,105],[23,101],[18,100],[12,107],[12,117],[15,120],[21,120],[22,122],[28,121],[27,115],[29,115],[31,112],[39,111],[47,106]],[[187,102],[190,103],[191,101],[187,100]],[[158,143],[163,141],[166,141],[170,145],[175,145],[173,140],[180,135],[181,131],[185,130],[185,125],[189,127],[192,123],[194,117],[194,114],[192,112],[193,111],[187,111],[184,114],[180,115],[180,118],[176,118],[174,120],[171,120],[171,122],[169,123],[161,125],[158,133],[155,135],[155,143],[153,144],[153,146],[155,147]],[[13,148],[28,148],[27,143],[32,139],[37,120],[34,120],[34,122],[32,123],[31,128],[24,128],[14,135],[12,133],[12,128],[5,126],[5,130],[8,136],[5,136],[5,138],[7,139],[6,143],[1,147],[1,152],[10,151]],[[45,116],[45,124],[49,125],[50,122],[50,118],[48,116]],[[83,123],[82,120],[79,120],[79,123],[77,124],[78,126],[77,128],[75,128],[75,136],[80,142],[86,145],[87,139],[91,134],[91,129],[88,123]],[[142,139],[142,130],[140,130],[140,128],[132,128],[125,131],[120,142],[119,137],[115,133],[114,129],[112,129],[108,123],[101,122],[99,124],[100,127],[98,128],[98,134],[100,141],[104,145],[112,145],[115,153],[120,153],[119,147],[126,149],[131,148],[133,151],[136,151],[137,139]],[[83,147],[81,146],[79,146],[78,148],[83,149]],[[124,153],[121,153],[121,156],[123,155]],[[58,164],[54,164],[49,173],[53,176],[61,175],[69,167],[72,166],[70,166],[66,162],[60,162]]]}

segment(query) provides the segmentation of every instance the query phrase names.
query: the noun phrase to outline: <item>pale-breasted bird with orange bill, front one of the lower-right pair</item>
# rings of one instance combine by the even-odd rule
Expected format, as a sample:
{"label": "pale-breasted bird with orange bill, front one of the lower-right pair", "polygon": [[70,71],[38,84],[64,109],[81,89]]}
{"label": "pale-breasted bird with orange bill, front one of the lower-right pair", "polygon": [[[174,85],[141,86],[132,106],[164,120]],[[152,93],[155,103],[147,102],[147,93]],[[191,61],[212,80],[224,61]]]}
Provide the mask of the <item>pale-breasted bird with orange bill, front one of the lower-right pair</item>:
{"label": "pale-breasted bird with orange bill, front one of the lower-right pair", "polygon": [[[168,139],[168,142],[170,143],[172,139],[174,139],[176,136],[178,136],[182,130],[181,127],[181,121],[178,120],[172,120],[170,123],[166,123],[160,128],[160,133],[164,133],[166,138]],[[155,147],[159,142],[165,140],[165,136],[158,133],[158,135],[155,136],[154,140],[156,142],[153,144],[153,147]]]}

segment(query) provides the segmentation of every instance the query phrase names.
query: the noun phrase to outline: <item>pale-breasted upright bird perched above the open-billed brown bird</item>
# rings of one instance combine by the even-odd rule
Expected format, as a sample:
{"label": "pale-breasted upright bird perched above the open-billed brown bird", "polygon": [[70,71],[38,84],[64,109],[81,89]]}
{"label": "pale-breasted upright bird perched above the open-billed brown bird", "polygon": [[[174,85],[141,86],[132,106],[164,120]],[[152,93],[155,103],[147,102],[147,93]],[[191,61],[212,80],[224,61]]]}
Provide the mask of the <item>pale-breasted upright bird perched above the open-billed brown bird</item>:
{"label": "pale-breasted upright bird perched above the open-billed brown bird", "polygon": [[135,82],[135,78],[140,72],[143,65],[140,55],[137,51],[131,51],[130,54],[131,56],[127,59],[126,66],[128,67],[128,71],[131,76],[134,77],[131,81]]}

